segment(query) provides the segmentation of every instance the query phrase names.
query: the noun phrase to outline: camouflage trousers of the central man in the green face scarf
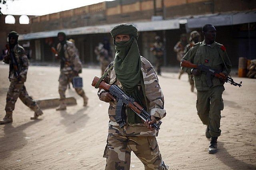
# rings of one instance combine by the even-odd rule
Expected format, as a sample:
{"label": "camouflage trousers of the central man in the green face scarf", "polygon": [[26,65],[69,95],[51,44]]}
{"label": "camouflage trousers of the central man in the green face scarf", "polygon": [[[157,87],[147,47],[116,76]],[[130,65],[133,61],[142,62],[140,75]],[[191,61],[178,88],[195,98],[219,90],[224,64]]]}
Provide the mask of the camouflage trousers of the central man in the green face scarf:
{"label": "camouflage trousers of the central man in the green face scarf", "polygon": [[168,170],[162,160],[155,136],[124,136],[108,134],[103,157],[105,170],[129,170],[131,152],[144,164],[145,170]]}

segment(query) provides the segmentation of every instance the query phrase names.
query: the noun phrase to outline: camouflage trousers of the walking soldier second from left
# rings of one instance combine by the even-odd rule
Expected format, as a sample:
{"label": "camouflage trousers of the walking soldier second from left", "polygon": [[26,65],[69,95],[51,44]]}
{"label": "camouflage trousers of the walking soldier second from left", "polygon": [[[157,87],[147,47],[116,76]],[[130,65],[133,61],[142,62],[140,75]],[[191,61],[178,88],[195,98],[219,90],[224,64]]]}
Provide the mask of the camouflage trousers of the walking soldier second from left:
{"label": "camouflage trousers of the walking soldier second from left", "polygon": [[[73,71],[71,73],[65,74],[64,72],[60,72],[59,77],[59,94],[60,94],[60,100],[64,101],[66,99],[66,90],[68,83],[72,83],[72,78],[75,77]],[[76,88],[76,93],[83,97],[85,95],[84,90],[82,88]]]}

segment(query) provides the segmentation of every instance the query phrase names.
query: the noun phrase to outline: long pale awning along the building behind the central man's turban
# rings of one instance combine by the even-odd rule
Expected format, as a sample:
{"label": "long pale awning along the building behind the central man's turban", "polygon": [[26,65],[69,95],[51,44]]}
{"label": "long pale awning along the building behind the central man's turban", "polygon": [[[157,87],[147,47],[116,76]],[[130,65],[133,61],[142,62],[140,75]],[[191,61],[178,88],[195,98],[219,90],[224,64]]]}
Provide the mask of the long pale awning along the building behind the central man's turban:
{"label": "long pale awning along the building behind the central man's turban", "polygon": [[[151,22],[129,22],[129,24],[133,24],[134,26],[136,26],[136,28],[138,29],[138,32],[156,31],[156,30],[174,30],[174,29],[180,28],[179,20],[176,20],[176,19],[151,21]],[[78,28],[71,28],[71,29],[64,29],[64,30],[54,30],[54,31],[48,31],[48,32],[21,34],[19,36],[19,41],[57,37],[58,32],[65,32],[67,36],[81,35],[81,34],[110,33],[110,30],[112,30],[112,28],[114,28],[114,26],[116,25],[118,24],[86,26],[86,27],[78,27]]]}

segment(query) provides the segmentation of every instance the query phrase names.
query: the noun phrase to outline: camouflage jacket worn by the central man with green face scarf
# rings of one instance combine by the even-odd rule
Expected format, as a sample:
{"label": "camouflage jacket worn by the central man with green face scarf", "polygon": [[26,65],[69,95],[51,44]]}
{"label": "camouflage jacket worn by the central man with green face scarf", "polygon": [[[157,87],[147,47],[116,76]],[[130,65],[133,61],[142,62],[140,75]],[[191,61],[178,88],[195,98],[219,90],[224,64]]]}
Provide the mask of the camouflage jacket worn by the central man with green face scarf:
{"label": "camouflage jacket worn by the central man with green face scarf", "polygon": [[[110,64],[112,65],[113,62]],[[110,65],[106,68],[106,70],[110,67]],[[158,77],[154,70],[154,67],[151,63],[146,60],[144,57],[141,57],[141,72],[144,79],[145,90],[146,90],[146,98],[147,105],[149,107],[149,113],[151,116],[157,117],[158,120],[164,118],[166,116],[166,111],[164,110],[164,95],[162,93],[162,89],[158,82]],[[116,78],[116,73],[114,69],[112,69],[108,75],[105,77],[104,81],[110,85],[117,85],[120,87],[120,83]],[[141,88],[141,85],[138,84],[138,88]],[[100,93],[104,92],[104,89],[99,89],[98,96],[100,97]],[[118,123],[116,123],[116,101],[111,101],[110,106],[108,108],[108,116],[109,116],[109,133],[120,133],[126,136],[157,136],[158,131],[151,131],[144,126],[144,123],[138,124],[130,124],[126,120],[126,126],[124,128],[120,128]],[[127,113],[126,113],[127,114]]]}

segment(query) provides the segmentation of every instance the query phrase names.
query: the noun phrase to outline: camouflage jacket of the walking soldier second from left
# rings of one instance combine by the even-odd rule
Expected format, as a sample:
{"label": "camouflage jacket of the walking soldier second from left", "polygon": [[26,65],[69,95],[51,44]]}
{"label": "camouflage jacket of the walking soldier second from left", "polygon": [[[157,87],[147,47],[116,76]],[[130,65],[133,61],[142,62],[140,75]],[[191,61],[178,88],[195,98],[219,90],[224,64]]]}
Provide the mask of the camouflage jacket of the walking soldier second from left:
{"label": "camouflage jacket of the walking soldier second from left", "polygon": [[[57,45],[58,53],[60,53],[60,47],[61,47],[61,44],[58,43]],[[72,70],[76,72],[79,72],[80,70],[82,70],[82,63],[80,61],[78,50],[74,45],[74,43],[67,41],[67,43],[63,45],[63,48],[64,48],[65,56],[59,56],[59,57],[64,57],[66,61],[61,71],[64,73],[70,73]]]}

